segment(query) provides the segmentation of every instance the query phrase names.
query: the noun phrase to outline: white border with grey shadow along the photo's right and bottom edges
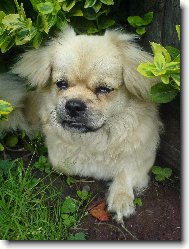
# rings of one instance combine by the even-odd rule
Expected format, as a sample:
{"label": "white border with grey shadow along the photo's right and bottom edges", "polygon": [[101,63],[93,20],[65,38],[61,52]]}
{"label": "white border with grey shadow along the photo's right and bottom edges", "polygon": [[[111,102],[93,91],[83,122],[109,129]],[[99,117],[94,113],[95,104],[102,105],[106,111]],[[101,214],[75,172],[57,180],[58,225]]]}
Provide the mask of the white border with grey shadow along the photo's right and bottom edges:
{"label": "white border with grey shadow along the photo's right and bottom edges", "polygon": [[[183,218],[183,242],[142,242],[139,241],[138,243],[136,242],[8,242],[8,241],[1,241],[0,240],[0,249],[25,249],[25,248],[34,248],[34,249],[42,249],[42,248],[101,248],[101,246],[104,247],[124,247],[124,248],[138,248],[142,247],[145,249],[155,249],[155,248],[161,248],[161,249],[178,249],[178,248],[183,248],[183,249],[189,249],[189,203],[188,203],[188,193],[189,193],[189,132],[188,132],[188,127],[189,127],[189,116],[188,116],[188,108],[189,108],[189,49],[188,49],[188,44],[189,44],[189,0],[181,0],[181,8],[182,8],[182,15],[183,15],[183,23],[182,23],[182,55],[183,55],[183,73],[182,73],[182,117],[183,117],[183,125],[182,125],[182,134],[183,134],[183,147],[184,147],[184,153],[183,153],[183,162],[182,162],[182,170],[184,170],[184,174],[182,174],[183,179],[184,179],[184,185],[183,185],[183,196],[182,199],[184,199],[183,204],[183,211],[184,213],[182,214]],[[183,91],[184,89],[184,91]]]}

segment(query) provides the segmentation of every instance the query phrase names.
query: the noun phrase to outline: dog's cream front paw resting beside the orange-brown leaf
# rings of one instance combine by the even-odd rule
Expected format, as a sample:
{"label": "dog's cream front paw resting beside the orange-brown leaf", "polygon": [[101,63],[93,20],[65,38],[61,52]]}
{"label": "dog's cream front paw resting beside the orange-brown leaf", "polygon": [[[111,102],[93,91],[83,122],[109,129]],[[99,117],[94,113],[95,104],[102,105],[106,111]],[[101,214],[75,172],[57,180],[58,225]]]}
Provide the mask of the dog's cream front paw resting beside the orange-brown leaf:
{"label": "dog's cream front paw resting beside the orange-brown leaf", "polygon": [[133,197],[125,191],[111,191],[107,202],[108,210],[116,213],[115,219],[118,223],[123,223],[123,217],[129,217],[135,213]]}

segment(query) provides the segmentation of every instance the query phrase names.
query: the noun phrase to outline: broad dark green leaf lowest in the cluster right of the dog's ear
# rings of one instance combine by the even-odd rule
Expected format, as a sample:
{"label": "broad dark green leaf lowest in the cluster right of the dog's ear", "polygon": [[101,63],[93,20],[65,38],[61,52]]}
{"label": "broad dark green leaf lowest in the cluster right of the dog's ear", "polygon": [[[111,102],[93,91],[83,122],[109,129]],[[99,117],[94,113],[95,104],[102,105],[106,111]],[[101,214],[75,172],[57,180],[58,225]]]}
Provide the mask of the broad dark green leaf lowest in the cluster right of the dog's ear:
{"label": "broad dark green leaf lowest in the cluster right of the dog's ear", "polygon": [[155,103],[168,103],[172,101],[178,91],[170,84],[158,83],[152,86],[149,97]]}

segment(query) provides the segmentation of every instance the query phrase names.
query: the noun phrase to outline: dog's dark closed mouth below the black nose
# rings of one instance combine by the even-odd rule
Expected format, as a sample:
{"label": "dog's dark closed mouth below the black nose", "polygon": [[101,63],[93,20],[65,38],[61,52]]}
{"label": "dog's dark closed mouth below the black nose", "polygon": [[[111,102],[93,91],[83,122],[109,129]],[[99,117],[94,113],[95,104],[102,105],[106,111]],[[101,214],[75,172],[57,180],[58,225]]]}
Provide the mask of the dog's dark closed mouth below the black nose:
{"label": "dog's dark closed mouth below the black nose", "polygon": [[73,131],[73,132],[79,132],[79,133],[95,132],[102,127],[101,126],[98,128],[96,128],[96,127],[94,128],[94,127],[91,127],[91,126],[86,125],[84,123],[76,122],[76,121],[72,121],[72,120],[62,120],[61,123],[65,129]]}

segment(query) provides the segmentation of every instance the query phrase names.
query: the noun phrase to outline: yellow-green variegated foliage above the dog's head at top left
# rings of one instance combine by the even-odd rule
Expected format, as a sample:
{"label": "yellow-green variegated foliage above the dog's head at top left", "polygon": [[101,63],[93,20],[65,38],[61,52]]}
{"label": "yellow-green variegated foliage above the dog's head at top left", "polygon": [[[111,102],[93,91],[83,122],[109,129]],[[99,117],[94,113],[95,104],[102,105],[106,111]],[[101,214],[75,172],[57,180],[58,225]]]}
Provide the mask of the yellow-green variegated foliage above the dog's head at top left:
{"label": "yellow-green variegated foliage above the dog's head at top left", "polygon": [[[113,0],[9,0],[0,4],[0,48],[29,44],[38,48],[50,30],[71,24],[78,32],[98,33],[114,25]],[[27,15],[26,15],[27,13]],[[29,15],[29,16],[28,16]]]}

